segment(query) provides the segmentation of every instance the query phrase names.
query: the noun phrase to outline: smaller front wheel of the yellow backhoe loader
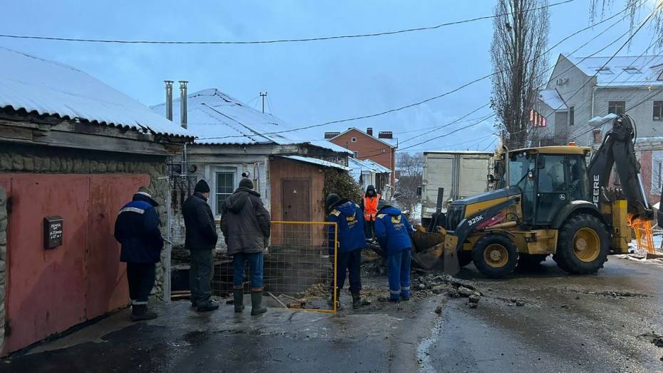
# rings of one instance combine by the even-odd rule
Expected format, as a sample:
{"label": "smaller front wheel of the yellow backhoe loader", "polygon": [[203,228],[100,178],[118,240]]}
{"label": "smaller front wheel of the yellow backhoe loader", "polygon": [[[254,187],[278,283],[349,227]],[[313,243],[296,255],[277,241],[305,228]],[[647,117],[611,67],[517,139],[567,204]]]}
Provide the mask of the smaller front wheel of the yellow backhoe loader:
{"label": "smaller front wheel of the yellow backhoe loader", "polygon": [[518,249],[505,235],[485,235],[474,245],[472,260],[483,275],[505,277],[510,275],[518,264]]}

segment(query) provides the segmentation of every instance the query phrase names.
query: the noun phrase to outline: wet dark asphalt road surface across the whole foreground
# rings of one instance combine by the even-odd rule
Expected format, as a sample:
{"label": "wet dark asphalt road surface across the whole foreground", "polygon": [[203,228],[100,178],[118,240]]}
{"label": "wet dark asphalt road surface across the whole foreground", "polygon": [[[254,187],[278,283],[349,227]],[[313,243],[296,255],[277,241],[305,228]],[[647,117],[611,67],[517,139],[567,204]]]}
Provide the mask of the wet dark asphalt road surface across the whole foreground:
{"label": "wet dark asphalt road surface across the whole foreground", "polygon": [[438,295],[336,316],[173,302],[132,323],[125,310],[0,372],[663,372],[663,348],[638,337],[663,334],[663,265],[611,258],[569,276],[553,264],[499,281],[463,269],[484,295],[476,309]]}

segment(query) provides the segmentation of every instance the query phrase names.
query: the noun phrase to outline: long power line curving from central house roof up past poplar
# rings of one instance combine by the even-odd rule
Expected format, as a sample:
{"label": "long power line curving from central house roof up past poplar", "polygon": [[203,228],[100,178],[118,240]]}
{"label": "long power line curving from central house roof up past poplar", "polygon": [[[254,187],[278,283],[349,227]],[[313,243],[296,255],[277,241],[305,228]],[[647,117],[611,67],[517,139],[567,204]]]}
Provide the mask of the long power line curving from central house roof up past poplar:
{"label": "long power line curving from central house roof up past poplar", "polygon": [[[597,22],[597,23],[595,23],[595,24],[591,24],[590,26],[587,26],[587,27],[585,27],[585,28],[583,28],[583,29],[580,29],[580,30],[575,31],[574,33],[572,33],[572,34],[566,36],[565,38],[563,38],[562,40],[558,41],[555,45],[553,45],[552,47],[548,48],[546,51],[544,51],[544,52],[541,53],[540,55],[538,55],[538,56],[534,56],[532,59],[530,59],[530,60],[528,60],[528,61],[525,61],[523,64],[525,64],[525,63],[530,63],[531,61],[534,61],[536,58],[540,58],[541,56],[545,56],[546,53],[548,53],[549,51],[551,51],[553,48],[556,48],[557,46],[559,46],[559,45],[562,44],[563,42],[567,41],[568,39],[571,39],[573,36],[576,36],[577,34],[580,34],[580,33],[582,33],[583,31],[587,31],[588,29],[592,29],[593,27],[598,26],[598,25],[600,25],[600,24],[603,24],[603,23],[605,23],[605,22],[607,22],[607,21],[610,21],[611,19],[615,18],[615,17],[618,16],[619,14],[622,14],[623,12],[627,11],[627,9],[628,9],[628,8],[622,9],[622,11],[618,12],[617,14],[615,14],[615,15],[613,15],[613,16],[610,16],[610,17],[607,18],[607,19],[603,19],[602,21],[599,21],[599,22]],[[523,66],[523,64],[521,64],[520,66]],[[395,113],[395,112],[397,112],[397,111],[403,111],[403,110],[405,110],[405,109],[407,109],[407,108],[412,108],[412,107],[415,107],[415,106],[419,106],[419,105],[422,105],[423,103],[428,103],[428,102],[430,102],[430,101],[437,100],[438,98],[442,98],[442,97],[444,97],[444,96],[448,96],[448,95],[450,95],[451,93],[455,93],[455,92],[457,92],[457,91],[460,91],[460,90],[463,89],[463,88],[466,88],[466,87],[468,87],[468,86],[471,86],[471,85],[474,84],[474,83],[478,83],[479,81],[483,81],[483,80],[485,80],[485,79],[487,79],[487,78],[490,78],[491,76],[495,76],[496,74],[498,74],[498,73],[502,73],[503,71],[505,71],[505,70],[502,70],[502,71],[495,71],[495,72],[493,72],[493,73],[489,73],[489,74],[487,74],[487,75],[485,75],[485,76],[481,76],[480,78],[476,78],[476,79],[474,79],[473,81],[469,81],[469,82],[467,82],[467,83],[462,84],[461,86],[458,86],[458,87],[456,87],[456,88],[453,88],[453,89],[451,89],[451,91],[446,91],[446,92],[441,93],[441,94],[438,94],[438,95],[436,95],[436,96],[429,97],[429,98],[423,99],[423,100],[421,100],[421,101],[417,101],[417,102],[415,102],[415,103],[409,103],[409,104],[407,104],[407,105],[400,106],[400,107],[398,107],[398,108],[392,108],[392,109],[389,109],[389,110],[386,110],[386,111],[381,111],[381,112],[379,112],[379,113],[368,114],[368,115],[365,115],[365,116],[356,116],[356,117],[351,117],[351,118],[338,119],[338,120],[335,120],[335,121],[327,121],[327,122],[324,122],[324,123],[317,123],[317,124],[313,124],[313,125],[309,125],[309,126],[303,126],[303,127],[298,127],[298,128],[290,128],[290,129],[288,129],[288,130],[283,130],[283,131],[266,132],[266,133],[261,133],[261,135],[274,135],[274,134],[278,134],[278,133],[289,133],[289,132],[294,132],[294,131],[307,130],[307,129],[310,129],[310,128],[317,128],[317,127],[329,126],[329,125],[332,125],[332,124],[345,123],[345,122],[350,122],[350,121],[359,121],[359,120],[361,120],[361,119],[368,119],[368,118],[376,118],[376,117],[378,117],[378,116],[384,116],[384,115],[389,114],[389,113]],[[488,104],[487,104],[487,105],[488,105]],[[247,136],[247,135],[243,135],[243,136]],[[238,137],[238,136],[220,136],[220,137],[210,137],[210,138],[200,138],[200,139],[201,139],[201,140],[215,140],[215,139],[231,138],[231,137],[232,137],[232,138],[235,138],[235,137]],[[241,137],[241,136],[240,136],[240,137]],[[418,137],[418,136],[417,136],[417,137]]]}

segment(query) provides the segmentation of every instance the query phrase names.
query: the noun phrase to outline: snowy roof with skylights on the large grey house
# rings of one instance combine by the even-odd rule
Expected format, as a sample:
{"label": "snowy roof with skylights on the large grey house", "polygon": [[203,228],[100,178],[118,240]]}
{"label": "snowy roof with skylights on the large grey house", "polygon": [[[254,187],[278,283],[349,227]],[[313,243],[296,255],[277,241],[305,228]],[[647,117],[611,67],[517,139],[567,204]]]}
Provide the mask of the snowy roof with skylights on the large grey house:
{"label": "snowy roof with skylights on the large grey house", "polygon": [[587,76],[596,74],[597,86],[663,86],[663,55],[565,58]]}

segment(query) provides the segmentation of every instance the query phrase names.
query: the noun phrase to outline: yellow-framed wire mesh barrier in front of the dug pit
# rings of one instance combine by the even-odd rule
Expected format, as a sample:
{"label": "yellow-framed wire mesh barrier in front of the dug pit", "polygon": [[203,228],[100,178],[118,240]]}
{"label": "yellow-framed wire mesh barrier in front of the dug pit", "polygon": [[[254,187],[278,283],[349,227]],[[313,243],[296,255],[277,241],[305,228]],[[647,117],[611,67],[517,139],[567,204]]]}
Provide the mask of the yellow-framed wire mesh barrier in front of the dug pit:
{"label": "yellow-framed wire mesh barrier in front of the dug pit", "polygon": [[[336,312],[327,300],[332,294],[336,250],[336,224],[272,221],[269,249],[263,256],[263,298],[271,307]],[[232,257],[214,263],[212,293],[226,297],[233,289]],[[245,292],[251,289],[250,262],[244,266]]]}

